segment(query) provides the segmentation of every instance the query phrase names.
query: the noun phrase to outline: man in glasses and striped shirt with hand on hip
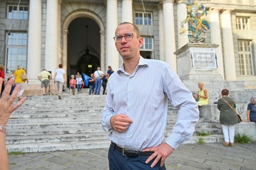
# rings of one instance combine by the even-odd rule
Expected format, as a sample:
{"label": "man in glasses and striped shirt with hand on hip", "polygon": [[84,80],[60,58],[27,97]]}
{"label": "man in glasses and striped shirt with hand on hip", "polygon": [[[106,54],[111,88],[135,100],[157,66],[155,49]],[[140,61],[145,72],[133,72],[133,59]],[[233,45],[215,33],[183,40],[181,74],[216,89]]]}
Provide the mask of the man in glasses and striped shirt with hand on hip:
{"label": "man in glasses and striped shirt with hand on hip", "polygon": [[[134,24],[119,24],[113,39],[124,63],[109,78],[102,114],[109,169],[165,169],[167,156],[195,131],[197,103],[167,63],[140,56],[143,37]],[[164,141],[168,101],[178,114]]]}

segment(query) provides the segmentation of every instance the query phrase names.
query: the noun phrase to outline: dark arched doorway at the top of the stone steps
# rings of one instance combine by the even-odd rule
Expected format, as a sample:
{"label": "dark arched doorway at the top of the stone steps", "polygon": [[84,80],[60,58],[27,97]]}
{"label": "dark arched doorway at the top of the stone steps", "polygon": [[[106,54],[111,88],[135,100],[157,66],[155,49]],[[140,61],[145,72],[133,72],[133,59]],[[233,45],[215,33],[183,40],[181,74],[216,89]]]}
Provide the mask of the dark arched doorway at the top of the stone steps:
{"label": "dark arched doorway at the top of the stone steps", "polygon": [[91,18],[79,17],[68,26],[67,72],[90,75],[100,66],[100,27]]}

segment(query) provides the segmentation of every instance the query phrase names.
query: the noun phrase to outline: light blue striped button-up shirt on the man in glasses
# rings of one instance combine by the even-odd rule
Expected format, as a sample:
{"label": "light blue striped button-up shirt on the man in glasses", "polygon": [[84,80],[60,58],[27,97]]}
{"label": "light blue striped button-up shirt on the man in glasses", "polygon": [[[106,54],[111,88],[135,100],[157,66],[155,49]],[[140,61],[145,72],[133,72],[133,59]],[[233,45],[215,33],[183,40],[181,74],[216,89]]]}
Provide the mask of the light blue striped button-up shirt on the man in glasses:
{"label": "light blue striped button-up shirt on the man in glasses", "polygon": [[[130,150],[156,147],[165,138],[168,100],[178,109],[177,122],[165,141],[176,149],[193,136],[199,110],[192,92],[181,82],[171,67],[163,62],[140,57],[130,75],[124,64],[108,82],[102,127],[111,131],[109,139]],[[125,114],[132,123],[124,133],[112,129],[110,119]]]}

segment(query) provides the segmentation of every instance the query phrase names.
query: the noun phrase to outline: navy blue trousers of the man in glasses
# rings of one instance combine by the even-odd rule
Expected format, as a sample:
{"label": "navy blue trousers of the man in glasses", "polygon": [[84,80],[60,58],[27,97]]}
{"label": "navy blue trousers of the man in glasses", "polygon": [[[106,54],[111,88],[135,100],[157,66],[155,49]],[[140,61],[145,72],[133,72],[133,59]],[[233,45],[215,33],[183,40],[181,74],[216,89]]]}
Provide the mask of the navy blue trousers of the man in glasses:
{"label": "navy blue trousers of the man in glasses", "polygon": [[156,170],[162,169],[166,170],[165,165],[160,167],[160,160],[152,168],[150,165],[155,159],[151,160],[150,163],[146,164],[145,161],[150,156],[137,156],[135,158],[130,158],[128,156],[123,156],[121,152],[115,150],[113,146],[109,147],[109,169],[110,170]]}

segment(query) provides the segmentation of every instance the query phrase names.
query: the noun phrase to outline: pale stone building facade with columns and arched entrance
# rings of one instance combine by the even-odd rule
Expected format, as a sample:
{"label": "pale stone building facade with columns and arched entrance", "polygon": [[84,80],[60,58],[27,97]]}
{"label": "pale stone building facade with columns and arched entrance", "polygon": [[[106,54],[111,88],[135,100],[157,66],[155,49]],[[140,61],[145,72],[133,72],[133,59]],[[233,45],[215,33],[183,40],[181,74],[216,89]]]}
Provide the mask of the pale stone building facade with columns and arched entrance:
{"label": "pale stone building facade with columns and arched entrance", "polygon": [[[256,1],[201,0],[210,29],[205,44],[217,44],[217,71],[224,81],[244,81],[256,88]],[[177,50],[188,44],[180,33],[187,16],[183,0],[0,0],[0,65],[5,75],[23,65],[29,77],[27,95],[38,94],[37,75],[54,75],[63,63],[68,77],[92,73],[98,66],[117,70],[115,28],[137,24],[144,39],[141,56],[166,61],[177,71]],[[187,26],[185,25],[187,29]]]}

